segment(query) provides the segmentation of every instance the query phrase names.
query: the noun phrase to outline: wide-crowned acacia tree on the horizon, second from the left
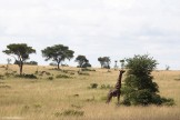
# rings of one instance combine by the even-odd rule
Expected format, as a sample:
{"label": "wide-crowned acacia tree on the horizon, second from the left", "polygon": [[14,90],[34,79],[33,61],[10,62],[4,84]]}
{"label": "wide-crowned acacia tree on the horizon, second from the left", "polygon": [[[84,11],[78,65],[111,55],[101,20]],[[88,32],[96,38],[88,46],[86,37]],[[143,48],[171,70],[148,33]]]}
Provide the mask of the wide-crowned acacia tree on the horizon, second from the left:
{"label": "wide-crowned acacia tree on the horizon, second from the left", "polygon": [[58,69],[59,64],[64,61],[66,59],[70,60],[73,58],[74,51],[69,50],[69,47],[63,44],[56,44],[52,47],[47,47],[46,49],[41,50],[42,57],[46,58],[46,61],[51,60],[57,62]]}

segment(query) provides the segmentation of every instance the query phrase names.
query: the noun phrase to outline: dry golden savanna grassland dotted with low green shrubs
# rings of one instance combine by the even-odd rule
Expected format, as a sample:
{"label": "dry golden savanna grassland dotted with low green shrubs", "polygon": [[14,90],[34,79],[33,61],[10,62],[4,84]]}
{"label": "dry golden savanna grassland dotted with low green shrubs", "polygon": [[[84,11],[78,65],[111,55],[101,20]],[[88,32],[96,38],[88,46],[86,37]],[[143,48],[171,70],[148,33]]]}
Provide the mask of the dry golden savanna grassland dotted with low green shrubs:
{"label": "dry golden savanna grassland dotted with low green shrubs", "polygon": [[176,106],[118,107],[117,99],[106,104],[106,97],[119,71],[61,69],[24,66],[24,73],[38,77],[27,79],[16,77],[18,66],[1,64],[0,120],[180,120],[180,71],[152,72],[160,94]]}

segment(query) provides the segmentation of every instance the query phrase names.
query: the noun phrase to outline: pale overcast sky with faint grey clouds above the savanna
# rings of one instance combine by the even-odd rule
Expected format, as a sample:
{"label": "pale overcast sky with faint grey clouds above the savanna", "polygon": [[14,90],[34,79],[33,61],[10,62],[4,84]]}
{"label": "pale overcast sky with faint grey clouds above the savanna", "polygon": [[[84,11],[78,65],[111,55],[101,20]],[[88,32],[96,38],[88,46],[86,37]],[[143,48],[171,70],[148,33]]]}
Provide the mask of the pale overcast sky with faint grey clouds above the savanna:
{"label": "pale overcast sky with faint grey clouds above the savanna", "polygon": [[63,44],[93,67],[148,53],[180,70],[180,0],[0,0],[0,63],[13,60],[1,52],[10,43],[34,48],[30,60],[44,66],[41,50]]}

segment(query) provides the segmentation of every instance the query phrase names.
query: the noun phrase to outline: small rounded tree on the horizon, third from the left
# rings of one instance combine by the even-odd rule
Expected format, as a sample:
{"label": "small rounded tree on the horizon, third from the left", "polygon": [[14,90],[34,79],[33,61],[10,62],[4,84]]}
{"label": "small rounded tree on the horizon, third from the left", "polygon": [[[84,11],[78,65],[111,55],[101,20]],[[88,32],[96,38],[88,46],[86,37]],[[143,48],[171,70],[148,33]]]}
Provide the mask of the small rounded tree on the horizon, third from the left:
{"label": "small rounded tree on the horizon, third from the left", "polygon": [[86,58],[86,56],[78,56],[74,60],[76,62],[79,63],[80,68],[83,68],[84,64],[89,64],[89,60]]}

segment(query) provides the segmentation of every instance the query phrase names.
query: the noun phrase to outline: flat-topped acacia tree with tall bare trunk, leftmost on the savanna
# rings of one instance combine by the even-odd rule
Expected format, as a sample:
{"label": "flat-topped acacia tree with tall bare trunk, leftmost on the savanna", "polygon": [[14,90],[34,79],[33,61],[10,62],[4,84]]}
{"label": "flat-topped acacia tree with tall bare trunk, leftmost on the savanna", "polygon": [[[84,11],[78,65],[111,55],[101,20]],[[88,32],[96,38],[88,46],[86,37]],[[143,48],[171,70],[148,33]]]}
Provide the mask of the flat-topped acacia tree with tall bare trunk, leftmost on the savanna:
{"label": "flat-topped acacia tree with tall bare trunk, leftmost on the savanna", "polygon": [[[7,46],[7,50],[3,50],[6,54],[12,56],[20,68],[20,74],[22,74],[22,67],[26,60],[29,59],[29,54],[36,53],[32,47],[28,47],[26,43],[12,43]],[[17,56],[17,58],[14,57]]]}

